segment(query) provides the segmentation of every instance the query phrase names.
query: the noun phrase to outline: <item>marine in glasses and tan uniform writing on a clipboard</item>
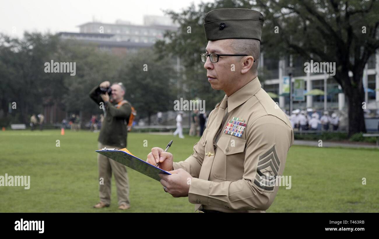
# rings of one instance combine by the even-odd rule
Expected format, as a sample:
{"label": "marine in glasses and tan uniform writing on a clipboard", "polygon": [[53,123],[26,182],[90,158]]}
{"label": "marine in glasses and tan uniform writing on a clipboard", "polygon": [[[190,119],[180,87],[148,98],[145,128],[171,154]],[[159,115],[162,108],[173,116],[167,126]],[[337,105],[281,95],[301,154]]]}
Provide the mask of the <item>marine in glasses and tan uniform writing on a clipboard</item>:
{"label": "marine in glasses and tan uniform writing on a clipboard", "polygon": [[257,76],[264,19],[257,11],[229,8],[210,11],[204,20],[204,68],[211,87],[226,95],[191,156],[175,163],[172,154],[155,147],[147,161],[159,160],[172,173],[161,174],[164,191],[188,196],[195,211],[264,212],[278,192],[275,180],[293,144],[290,121]]}

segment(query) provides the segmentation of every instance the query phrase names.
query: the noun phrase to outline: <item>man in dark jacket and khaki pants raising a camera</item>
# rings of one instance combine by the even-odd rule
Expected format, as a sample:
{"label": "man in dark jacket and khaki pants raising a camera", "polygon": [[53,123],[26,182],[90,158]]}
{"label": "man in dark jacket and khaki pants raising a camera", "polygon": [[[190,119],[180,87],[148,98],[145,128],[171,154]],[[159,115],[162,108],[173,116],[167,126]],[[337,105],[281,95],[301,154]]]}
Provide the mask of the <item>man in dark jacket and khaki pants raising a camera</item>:
{"label": "man in dark jacket and khaki pants raising a camera", "polygon": [[[109,81],[102,82],[89,93],[91,99],[104,111],[104,119],[98,138],[98,149],[104,147],[122,149],[126,147],[127,124],[132,107],[129,102],[124,100],[124,95],[125,87],[122,83],[111,85]],[[97,155],[97,165],[99,178],[103,178],[103,184],[100,181],[100,202],[94,208],[110,205],[112,172],[116,180],[119,209],[127,210],[130,208],[126,167],[101,154]]]}

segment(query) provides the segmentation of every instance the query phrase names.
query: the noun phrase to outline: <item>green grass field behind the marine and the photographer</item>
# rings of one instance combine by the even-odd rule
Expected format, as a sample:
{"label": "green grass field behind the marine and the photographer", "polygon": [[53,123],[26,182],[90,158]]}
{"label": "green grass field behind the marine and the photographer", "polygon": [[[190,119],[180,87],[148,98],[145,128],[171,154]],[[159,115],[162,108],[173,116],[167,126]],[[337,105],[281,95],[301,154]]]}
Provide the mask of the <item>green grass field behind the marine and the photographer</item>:
{"label": "green grass field behind the marine and the photographer", "polygon": [[[117,209],[112,181],[111,206],[99,201],[97,136],[89,131],[6,130],[0,132],[0,175],[30,175],[30,189],[0,187],[0,212],[123,212]],[[150,149],[174,139],[175,161],[192,153],[199,138],[130,133],[128,149],[146,158]],[[56,147],[60,140],[60,147]],[[148,147],[144,147],[147,140]],[[267,212],[379,212],[379,150],[292,146],[284,175],[291,189],[280,187]],[[362,185],[362,178],[366,185]],[[193,212],[188,198],[165,193],[158,181],[128,169],[131,208],[126,212]]]}

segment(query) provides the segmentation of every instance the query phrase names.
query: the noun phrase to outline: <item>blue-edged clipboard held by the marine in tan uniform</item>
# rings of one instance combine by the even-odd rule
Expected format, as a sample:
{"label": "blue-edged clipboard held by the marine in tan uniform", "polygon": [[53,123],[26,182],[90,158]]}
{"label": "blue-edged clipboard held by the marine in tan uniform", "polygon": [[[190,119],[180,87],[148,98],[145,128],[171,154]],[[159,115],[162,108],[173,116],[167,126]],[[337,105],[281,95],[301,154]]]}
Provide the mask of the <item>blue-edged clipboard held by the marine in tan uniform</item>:
{"label": "blue-edged clipboard held by the marine in tan uniform", "polygon": [[134,169],[135,171],[140,172],[141,174],[144,174],[150,178],[153,178],[157,181],[160,181],[161,178],[158,174],[168,174],[171,175],[169,172],[164,171],[163,169],[160,169],[158,167],[155,167],[154,165],[151,165],[150,163],[147,163],[146,161],[135,157],[131,152],[129,152],[126,148],[124,149],[100,149],[96,150],[99,154],[102,154],[108,158],[113,159],[116,162],[119,162],[128,168]]}

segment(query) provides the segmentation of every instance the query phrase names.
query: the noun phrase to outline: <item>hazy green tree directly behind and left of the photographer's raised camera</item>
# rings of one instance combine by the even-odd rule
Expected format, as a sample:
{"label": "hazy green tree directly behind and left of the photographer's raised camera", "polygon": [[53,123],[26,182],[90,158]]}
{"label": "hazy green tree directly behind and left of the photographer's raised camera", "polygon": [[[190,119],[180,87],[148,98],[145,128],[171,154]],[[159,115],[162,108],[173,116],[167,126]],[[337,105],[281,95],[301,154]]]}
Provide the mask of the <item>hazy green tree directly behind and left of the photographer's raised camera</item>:
{"label": "hazy green tree directly behind and left of the photographer's raised camera", "polygon": [[[81,45],[77,41],[61,42],[57,53],[61,62],[75,62],[75,76],[66,75],[64,85],[67,88],[62,102],[68,112],[82,112],[85,115],[102,113],[100,106],[88,93],[103,81],[119,82],[117,79],[121,65],[120,57],[97,50],[95,45]],[[89,117],[89,116],[88,116]]]}

